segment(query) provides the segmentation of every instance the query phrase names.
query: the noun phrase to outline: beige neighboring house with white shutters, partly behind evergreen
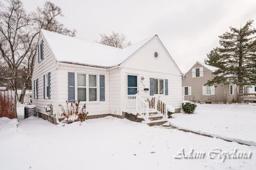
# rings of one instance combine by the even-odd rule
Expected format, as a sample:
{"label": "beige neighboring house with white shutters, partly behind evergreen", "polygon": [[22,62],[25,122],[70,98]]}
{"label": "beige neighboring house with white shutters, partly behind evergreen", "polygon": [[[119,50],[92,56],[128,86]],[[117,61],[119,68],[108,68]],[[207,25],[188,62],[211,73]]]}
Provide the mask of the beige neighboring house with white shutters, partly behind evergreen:
{"label": "beige neighboring house with white shutters, partly behind evergreen", "polygon": [[182,80],[182,95],[185,100],[200,103],[231,103],[237,100],[237,86],[235,84],[218,84],[204,86],[214,78],[212,73],[219,68],[204,63],[196,62],[184,75]]}

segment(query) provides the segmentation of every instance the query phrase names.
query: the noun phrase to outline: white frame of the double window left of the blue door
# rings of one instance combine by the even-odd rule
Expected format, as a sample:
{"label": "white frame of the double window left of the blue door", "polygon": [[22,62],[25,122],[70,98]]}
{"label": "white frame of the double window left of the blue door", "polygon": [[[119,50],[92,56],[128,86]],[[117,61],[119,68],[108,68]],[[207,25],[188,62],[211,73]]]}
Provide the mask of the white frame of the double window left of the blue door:
{"label": "white frame of the double window left of the blue door", "polygon": [[[86,74],[86,78],[85,78],[85,85],[86,86],[77,86],[77,74]],[[97,93],[97,99],[95,101],[89,101],[89,88],[93,88],[93,87],[89,87],[89,74],[90,75],[96,75],[96,93]],[[75,100],[78,101],[78,95],[77,95],[77,88],[86,88],[86,101],[80,101],[80,104],[85,104],[85,103],[89,103],[89,104],[100,104],[100,96],[99,96],[99,74],[95,74],[95,73],[88,73],[88,72],[75,72]]]}

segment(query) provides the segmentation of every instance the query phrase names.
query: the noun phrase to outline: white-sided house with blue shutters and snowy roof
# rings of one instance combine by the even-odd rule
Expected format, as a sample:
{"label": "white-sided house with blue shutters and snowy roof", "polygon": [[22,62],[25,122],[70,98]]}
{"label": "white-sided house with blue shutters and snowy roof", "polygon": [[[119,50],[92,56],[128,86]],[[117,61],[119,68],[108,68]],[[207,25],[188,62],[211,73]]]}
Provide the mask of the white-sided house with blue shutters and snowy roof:
{"label": "white-sided house with blue shutters and snowy roof", "polygon": [[180,112],[182,73],[157,35],[124,49],[46,30],[40,35],[32,78],[39,114],[52,104],[59,118],[66,100],[86,103],[92,117],[139,113],[148,120],[149,112],[165,117],[171,106]]}

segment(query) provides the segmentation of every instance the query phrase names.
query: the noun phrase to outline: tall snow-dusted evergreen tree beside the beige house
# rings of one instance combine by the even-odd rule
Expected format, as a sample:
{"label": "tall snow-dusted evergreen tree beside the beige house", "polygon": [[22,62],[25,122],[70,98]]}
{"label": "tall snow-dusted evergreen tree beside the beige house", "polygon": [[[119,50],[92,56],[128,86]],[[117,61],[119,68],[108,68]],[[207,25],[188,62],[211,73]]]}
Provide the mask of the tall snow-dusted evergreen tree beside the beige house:
{"label": "tall snow-dusted evergreen tree beside the beige house", "polygon": [[238,102],[243,101],[243,87],[256,83],[256,30],[253,21],[244,27],[230,27],[230,31],[219,36],[220,47],[216,48],[221,69],[215,71],[215,78],[208,81],[213,84],[236,84],[238,86]]}

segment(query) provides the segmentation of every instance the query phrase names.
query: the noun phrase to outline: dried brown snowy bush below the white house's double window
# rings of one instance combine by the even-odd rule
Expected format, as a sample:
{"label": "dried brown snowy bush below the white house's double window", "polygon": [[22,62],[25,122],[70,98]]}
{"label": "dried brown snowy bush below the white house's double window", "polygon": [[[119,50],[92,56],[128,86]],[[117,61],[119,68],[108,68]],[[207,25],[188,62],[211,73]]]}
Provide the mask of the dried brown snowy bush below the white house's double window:
{"label": "dried brown snowy bush below the white house's double window", "polygon": [[73,122],[78,122],[78,121],[85,121],[86,116],[88,112],[86,112],[86,104],[84,104],[82,107],[79,107],[80,101],[75,101],[69,103],[66,101],[67,104],[67,109],[63,107],[63,105],[59,105],[62,111],[62,116],[64,117],[62,123],[73,123]]}

